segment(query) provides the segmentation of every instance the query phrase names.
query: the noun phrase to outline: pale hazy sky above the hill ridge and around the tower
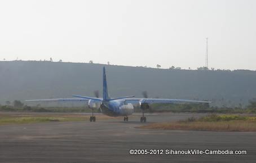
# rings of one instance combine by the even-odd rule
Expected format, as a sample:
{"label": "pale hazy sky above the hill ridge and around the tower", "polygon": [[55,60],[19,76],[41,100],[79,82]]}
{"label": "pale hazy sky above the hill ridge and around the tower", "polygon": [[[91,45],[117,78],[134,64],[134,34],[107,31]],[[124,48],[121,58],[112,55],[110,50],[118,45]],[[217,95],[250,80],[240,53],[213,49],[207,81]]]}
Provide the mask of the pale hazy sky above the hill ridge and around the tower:
{"label": "pale hazy sky above the hill ridge and around the tower", "polygon": [[256,70],[256,1],[0,1],[0,60]]}

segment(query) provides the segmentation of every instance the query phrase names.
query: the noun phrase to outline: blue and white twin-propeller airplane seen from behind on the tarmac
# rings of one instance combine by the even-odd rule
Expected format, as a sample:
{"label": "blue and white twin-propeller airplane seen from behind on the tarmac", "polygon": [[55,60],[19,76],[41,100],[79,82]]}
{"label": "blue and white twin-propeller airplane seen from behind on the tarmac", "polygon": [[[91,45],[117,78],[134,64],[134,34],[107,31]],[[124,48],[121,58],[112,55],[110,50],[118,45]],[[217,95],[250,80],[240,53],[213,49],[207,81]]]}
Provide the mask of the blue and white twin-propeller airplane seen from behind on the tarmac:
{"label": "blue and white twin-propeller airplane seen from behind on the tarmac", "polygon": [[189,99],[163,99],[163,98],[134,98],[135,96],[125,96],[110,98],[108,96],[107,76],[105,67],[103,67],[103,98],[86,97],[80,95],[72,95],[76,98],[52,98],[52,99],[31,99],[25,102],[37,101],[88,101],[89,108],[92,110],[90,121],[96,121],[94,110],[100,109],[100,112],[108,116],[124,116],[123,121],[128,121],[128,116],[134,113],[134,104],[139,104],[142,109],[142,117],[140,122],[145,123],[147,118],[144,116],[145,110],[149,108],[150,103],[176,103],[176,102],[191,102],[191,103],[210,103],[210,101],[195,101]]}

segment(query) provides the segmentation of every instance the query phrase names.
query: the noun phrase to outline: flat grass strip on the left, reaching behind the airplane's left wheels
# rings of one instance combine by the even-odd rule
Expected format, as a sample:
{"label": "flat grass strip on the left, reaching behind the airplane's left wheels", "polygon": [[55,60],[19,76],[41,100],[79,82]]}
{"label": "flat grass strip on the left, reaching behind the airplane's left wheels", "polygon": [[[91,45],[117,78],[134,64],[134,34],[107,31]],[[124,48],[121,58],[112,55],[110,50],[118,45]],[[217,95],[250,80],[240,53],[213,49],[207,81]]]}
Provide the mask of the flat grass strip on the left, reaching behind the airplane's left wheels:
{"label": "flat grass strip on the left, reaching behind the airplane's left wheels", "polygon": [[[109,119],[104,115],[97,115],[97,120]],[[0,115],[0,125],[6,124],[30,124],[30,123],[44,123],[44,122],[63,122],[63,121],[89,121],[90,115],[52,115],[52,114],[43,114],[43,115],[30,115],[30,114],[2,114]]]}

